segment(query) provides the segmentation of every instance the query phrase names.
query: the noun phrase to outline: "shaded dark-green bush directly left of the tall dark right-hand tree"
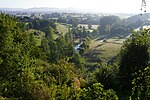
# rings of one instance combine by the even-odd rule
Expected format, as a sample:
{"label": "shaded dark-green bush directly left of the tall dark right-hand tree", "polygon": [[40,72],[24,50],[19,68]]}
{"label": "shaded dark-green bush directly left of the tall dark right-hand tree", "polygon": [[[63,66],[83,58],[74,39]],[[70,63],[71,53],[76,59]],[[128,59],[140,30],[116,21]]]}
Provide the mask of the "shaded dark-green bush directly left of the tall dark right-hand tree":
{"label": "shaded dark-green bush directly left of the tall dark right-hand tree", "polygon": [[101,64],[101,67],[94,74],[96,80],[103,84],[105,89],[118,89],[118,66]]}

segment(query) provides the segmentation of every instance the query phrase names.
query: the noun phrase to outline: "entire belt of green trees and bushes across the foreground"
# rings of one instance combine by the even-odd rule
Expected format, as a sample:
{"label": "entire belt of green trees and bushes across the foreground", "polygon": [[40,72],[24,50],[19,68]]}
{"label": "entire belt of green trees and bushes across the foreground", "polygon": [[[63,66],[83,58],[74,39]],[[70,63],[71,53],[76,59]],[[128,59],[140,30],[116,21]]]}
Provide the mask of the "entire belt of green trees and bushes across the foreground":
{"label": "entire belt of green trees and bushes across the foreground", "polygon": [[[150,99],[149,29],[134,32],[108,65],[84,58],[91,42],[84,27],[55,37],[53,21],[28,25],[0,14],[0,99]],[[77,37],[83,41],[79,52],[73,44]]]}

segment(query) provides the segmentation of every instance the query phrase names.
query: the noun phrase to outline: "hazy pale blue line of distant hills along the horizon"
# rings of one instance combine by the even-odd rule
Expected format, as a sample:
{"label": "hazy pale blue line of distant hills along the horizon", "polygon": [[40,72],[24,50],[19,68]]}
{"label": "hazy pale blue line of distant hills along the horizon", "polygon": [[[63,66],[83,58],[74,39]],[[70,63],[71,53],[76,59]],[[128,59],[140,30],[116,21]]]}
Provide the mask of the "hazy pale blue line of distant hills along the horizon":
{"label": "hazy pale blue line of distant hills along the horizon", "polygon": [[93,13],[99,15],[116,15],[121,18],[127,18],[133,16],[135,14],[125,14],[125,13],[105,13],[101,11],[91,10],[91,9],[78,9],[78,8],[48,8],[48,7],[34,7],[29,9],[22,9],[22,8],[0,8],[0,11],[9,12],[9,11],[19,11],[19,12],[35,12],[35,13]]}

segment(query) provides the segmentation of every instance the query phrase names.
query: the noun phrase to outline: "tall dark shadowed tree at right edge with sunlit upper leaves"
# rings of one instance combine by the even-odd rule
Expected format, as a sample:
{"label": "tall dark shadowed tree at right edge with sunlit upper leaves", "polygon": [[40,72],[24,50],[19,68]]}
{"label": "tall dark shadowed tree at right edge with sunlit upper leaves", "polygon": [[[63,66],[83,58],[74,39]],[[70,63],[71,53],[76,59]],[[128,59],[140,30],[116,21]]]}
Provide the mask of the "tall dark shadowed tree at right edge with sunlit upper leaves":
{"label": "tall dark shadowed tree at right edge with sunlit upper leaves", "polygon": [[149,29],[140,33],[134,32],[121,49],[119,73],[122,90],[131,91],[135,73],[139,74],[140,70],[143,72],[148,66],[148,33]]}

